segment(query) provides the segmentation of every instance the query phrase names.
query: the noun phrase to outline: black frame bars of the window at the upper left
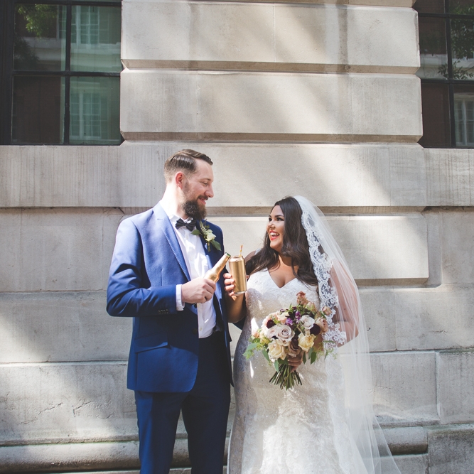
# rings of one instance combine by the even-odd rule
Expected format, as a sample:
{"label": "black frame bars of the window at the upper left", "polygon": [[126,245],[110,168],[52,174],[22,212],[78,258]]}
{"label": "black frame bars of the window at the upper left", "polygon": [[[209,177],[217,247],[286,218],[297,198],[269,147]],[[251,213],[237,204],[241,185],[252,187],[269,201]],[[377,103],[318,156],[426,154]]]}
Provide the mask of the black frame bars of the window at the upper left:
{"label": "black frame bars of the window at the upper left", "polygon": [[[120,72],[92,72],[71,70],[71,30],[72,6],[115,6],[122,7],[122,0],[88,1],[88,0],[3,0],[0,2],[0,27],[3,36],[0,38],[0,145],[36,146],[38,144],[16,144],[11,141],[13,116],[13,82],[18,76],[65,77],[64,97],[64,139],[62,144],[54,146],[70,146],[70,78],[71,77],[120,77]],[[66,7],[66,44],[65,70],[15,70],[14,69],[14,31],[15,9],[17,4],[45,4]],[[121,134],[121,143],[124,141]],[[80,144],[75,146],[114,146],[110,144]]]}

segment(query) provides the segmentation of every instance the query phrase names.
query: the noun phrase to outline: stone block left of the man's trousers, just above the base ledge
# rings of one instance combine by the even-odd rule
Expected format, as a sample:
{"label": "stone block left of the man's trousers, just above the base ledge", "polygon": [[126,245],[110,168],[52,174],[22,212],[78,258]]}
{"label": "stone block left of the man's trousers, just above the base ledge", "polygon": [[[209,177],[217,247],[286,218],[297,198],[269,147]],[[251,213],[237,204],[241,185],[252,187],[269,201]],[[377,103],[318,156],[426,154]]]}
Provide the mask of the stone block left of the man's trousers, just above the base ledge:
{"label": "stone block left of the man's trousers, just above the base ledge", "polygon": [[4,364],[0,381],[0,445],[136,439],[125,362]]}

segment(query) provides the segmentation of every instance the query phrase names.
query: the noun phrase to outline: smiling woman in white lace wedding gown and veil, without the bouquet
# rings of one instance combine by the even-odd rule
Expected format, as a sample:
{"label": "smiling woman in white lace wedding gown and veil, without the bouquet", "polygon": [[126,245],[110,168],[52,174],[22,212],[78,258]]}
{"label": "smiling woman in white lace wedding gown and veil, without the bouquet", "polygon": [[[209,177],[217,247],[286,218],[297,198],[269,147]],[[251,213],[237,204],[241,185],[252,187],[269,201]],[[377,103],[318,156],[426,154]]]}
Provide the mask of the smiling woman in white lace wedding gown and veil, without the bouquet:
{"label": "smiling woman in white lace wedding gown and veil, without the bouquet", "polygon": [[[246,259],[248,289],[235,296],[225,274],[229,321],[244,319],[235,351],[236,413],[230,474],[399,474],[372,411],[372,380],[359,293],[343,254],[318,208],[306,198],[275,203],[264,246]],[[264,318],[296,303],[303,291],[316,308],[328,306],[334,351],[302,364],[289,357],[302,385],[269,383],[274,367],[244,352]],[[328,311],[327,311],[328,312]],[[331,343],[327,343],[331,344]]]}

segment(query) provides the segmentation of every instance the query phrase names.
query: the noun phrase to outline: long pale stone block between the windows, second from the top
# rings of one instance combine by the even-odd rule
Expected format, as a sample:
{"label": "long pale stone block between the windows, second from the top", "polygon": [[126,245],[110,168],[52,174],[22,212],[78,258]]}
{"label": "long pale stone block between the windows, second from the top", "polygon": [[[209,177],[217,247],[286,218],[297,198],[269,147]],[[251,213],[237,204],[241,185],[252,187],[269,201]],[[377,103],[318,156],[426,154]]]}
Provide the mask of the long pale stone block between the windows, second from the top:
{"label": "long pale stone block between the windows, second from the top", "polygon": [[124,70],[120,87],[125,139],[416,142],[422,133],[413,75]]}

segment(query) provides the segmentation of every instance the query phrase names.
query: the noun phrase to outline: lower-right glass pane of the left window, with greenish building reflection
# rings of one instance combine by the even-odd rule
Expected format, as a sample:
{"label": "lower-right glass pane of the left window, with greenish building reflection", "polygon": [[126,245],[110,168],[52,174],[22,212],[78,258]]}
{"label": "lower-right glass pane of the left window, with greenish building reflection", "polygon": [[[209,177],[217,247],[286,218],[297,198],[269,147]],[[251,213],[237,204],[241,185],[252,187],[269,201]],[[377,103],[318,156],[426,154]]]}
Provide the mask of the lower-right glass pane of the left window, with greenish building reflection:
{"label": "lower-right glass pane of the left window, with greenish building reflection", "polygon": [[71,144],[120,144],[119,77],[71,77]]}

